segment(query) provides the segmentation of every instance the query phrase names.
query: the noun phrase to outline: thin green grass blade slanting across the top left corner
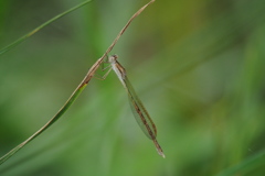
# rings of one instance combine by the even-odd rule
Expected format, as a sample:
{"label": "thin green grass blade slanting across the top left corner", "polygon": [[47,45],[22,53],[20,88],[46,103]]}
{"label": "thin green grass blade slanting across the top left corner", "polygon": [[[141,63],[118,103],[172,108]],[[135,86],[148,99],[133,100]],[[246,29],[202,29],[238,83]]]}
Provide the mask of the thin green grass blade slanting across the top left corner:
{"label": "thin green grass blade slanting across the top left corner", "polygon": [[28,34],[21,36],[20,38],[18,38],[17,41],[14,41],[13,43],[9,44],[8,46],[3,47],[2,50],[0,50],[0,55],[8,52],[9,50],[11,50],[12,47],[17,46],[18,44],[20,44],[21,42],[25,41],[28,37],[30,37],[31,35],[33,35],[34,33],[36,33],[38,31],[40,31],[41,29],[43,29],[44,26],[51,24],[52,22],[54,22],[55,20],[59,20],[60,18],[64,16],[65,14],[68,14],[71,12],[73,12],[74,10],[85,6],[86,3],[91,2],[92,0],[86,0],[73,8],[71,8],[70,10],[64,11],[63,13],[60,13],[59,15],[52,18],[51,20],[44,22],[43,24],[41,24],[40,26],[35,28],[33,31],[29,32]]}

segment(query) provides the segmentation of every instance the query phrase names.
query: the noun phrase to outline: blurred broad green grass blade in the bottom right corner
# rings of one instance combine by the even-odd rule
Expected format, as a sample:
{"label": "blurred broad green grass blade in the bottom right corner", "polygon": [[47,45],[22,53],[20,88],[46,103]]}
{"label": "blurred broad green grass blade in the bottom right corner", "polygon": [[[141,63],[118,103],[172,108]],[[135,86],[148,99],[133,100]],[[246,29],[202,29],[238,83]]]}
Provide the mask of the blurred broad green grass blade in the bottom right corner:
{"label": "blurred broad green grass blade in the bottom right corner", "polygon": [[250,157],[248,160],[243,161],[242,163],[237,164],[234,167],[231,167],[220,173],[218,176],[247,175],[247,173],[251,173],[253,170],[257,170],[261,167],[264,167],[264,163],[265,163],[265,151],[253,157]]}

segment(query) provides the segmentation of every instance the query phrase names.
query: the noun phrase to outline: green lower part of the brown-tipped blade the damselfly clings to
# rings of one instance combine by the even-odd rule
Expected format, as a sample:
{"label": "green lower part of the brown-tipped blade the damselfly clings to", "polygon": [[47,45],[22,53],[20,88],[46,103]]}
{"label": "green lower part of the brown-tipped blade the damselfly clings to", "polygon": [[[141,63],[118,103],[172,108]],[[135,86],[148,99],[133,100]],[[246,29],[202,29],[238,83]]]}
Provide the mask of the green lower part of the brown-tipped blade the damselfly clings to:
{"label": "green lower part of the brown-tipped blade the damselfly clings to", "polygon": [[82,86],[78,86],[77,89],[72,94],[72,96],[68,98],[68,100],[65,102],[65,105],[59,110],[59,112],[46,123],[44,124],[40,130],[38,130],[33,135],[31,135],[29,139],[26,139],[24,142],[12,148],[10,152],[8,152],[6,155],[3,155],[0,158],[0,165],[4,163],[7,160],[9,160],[13,154],[15,154],[19,150],[21,150],[25,144],[31,142],[33,139],[35,139],[38,135],[40,135],[42,132],[44,132],[49,127],[51,127],[56,120],[59,120],[60,117],[72,106],[72,103],[76,100],[76,98],[81,95],[81,92],[84,90],[84,88],[87,86],[87,84],[83,84]]}

